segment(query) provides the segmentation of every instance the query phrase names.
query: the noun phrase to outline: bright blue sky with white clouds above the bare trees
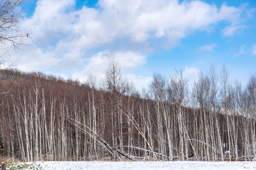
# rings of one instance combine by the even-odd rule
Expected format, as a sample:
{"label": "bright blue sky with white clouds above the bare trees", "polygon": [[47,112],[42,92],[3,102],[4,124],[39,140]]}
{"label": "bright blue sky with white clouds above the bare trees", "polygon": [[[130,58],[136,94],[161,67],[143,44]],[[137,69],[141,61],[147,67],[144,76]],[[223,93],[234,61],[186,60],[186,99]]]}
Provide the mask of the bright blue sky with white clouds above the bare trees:
{"label": "bright blue sky with white clouds above the bare trees", "polygon": [[256,74],[255,0],[26,0],[21,9],[29,38],[5,57],[22,71],[100,80],[114,57],[138,89],[156,72],[193,82],[225,64],[242,84]]}

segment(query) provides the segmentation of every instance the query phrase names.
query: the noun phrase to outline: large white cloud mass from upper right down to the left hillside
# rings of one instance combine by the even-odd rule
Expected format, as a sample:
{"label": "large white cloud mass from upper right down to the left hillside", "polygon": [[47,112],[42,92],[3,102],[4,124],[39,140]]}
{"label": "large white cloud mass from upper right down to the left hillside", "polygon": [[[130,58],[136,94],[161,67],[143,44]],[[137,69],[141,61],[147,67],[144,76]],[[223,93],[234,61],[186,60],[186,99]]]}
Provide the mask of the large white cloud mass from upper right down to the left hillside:
{"label": "large white cloud mass from upper right down to the left hillside", "polygon": [[155,50],[175,47],[189,33],[220,21],[227,26],[223,34],[232,35],[237,29],[230,27],[240,27],[241,13],[240,7],[203,1],[100,0],[97,8],[75,9],[75,0],[38,0],[33,16],[22,23],[31,40],[11,57],[21,58],[17,65],[23,70],[50,70],[80,80],[89,74],[102,77],[110,56],[132,69]]}

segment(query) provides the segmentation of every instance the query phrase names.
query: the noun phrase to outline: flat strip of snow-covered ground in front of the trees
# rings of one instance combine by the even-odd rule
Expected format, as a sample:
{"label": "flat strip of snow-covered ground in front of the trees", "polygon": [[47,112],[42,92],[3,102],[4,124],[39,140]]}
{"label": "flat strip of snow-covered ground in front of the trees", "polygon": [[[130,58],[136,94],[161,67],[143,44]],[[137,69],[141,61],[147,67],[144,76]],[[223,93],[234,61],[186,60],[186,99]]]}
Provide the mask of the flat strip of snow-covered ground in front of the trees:
{"label": "flat strip of snow-covered ground in front of the trees", "polygon": [[36,164],[41,164],[44,170],[256,170],[256,162],[36,162]]}

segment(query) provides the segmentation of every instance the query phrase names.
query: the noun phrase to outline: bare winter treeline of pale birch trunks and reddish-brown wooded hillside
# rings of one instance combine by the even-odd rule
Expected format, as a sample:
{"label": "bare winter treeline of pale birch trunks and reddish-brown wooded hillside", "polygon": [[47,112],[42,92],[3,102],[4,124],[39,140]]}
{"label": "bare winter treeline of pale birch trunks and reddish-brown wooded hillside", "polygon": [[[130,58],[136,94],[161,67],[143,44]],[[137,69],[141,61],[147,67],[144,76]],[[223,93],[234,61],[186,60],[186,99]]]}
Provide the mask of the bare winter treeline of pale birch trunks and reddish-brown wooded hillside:
{"label": "bare winter treeline of pale birch trunks and reddish-brown wooded hillside", "polygon": [[96,86],[17,70],[0,71],[1,154],[44,160],[252,160],[256,75],[246,87],[228,71],[154,74],[138,93],[110,61]]}

